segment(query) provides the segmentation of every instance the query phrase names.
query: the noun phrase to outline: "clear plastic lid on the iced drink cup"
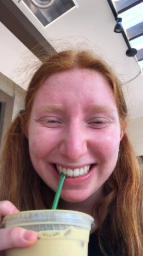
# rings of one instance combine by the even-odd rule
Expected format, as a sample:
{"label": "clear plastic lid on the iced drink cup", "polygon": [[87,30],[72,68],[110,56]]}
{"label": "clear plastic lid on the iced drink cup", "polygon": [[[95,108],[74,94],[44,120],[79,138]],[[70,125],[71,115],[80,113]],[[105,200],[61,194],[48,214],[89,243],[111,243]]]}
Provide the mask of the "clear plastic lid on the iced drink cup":
{"label": "clear plastic lid on the iced drink cup", "polygon": [[59,223],[84,226],[85,228],[93,228],[95,226],[94,219],[85,213],[68,210],[35,210],[23,211],[9,214],[4,217],[1,227],[19,226],[22,223],[42,224],[42,223]]}

